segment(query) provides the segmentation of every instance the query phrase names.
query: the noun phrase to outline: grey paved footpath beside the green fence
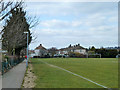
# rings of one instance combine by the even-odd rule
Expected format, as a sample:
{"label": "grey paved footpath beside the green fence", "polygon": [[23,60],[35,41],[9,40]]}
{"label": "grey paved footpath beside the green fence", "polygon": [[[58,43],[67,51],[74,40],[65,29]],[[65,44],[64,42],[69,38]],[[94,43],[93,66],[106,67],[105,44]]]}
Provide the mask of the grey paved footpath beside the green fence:
{"label": "grey paved footpath beside the green fence", "polygon": [[23,61],[2,76],[2,88],[21,88],[26,63]]}

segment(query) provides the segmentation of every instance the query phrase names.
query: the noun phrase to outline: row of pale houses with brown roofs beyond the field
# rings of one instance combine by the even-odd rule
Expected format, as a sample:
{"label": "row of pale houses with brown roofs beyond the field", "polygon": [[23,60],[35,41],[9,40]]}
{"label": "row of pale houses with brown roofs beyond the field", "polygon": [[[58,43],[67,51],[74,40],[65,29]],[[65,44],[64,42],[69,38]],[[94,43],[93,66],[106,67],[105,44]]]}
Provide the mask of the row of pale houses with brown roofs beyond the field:
{"label": "row of pale houses with brown roofs beyond the field", "polygon": [[74,46],[69,45],[68,47],[61,49],[57,49],[55,47],[46,49],[45,47],[43,47],[42,44],[40,44],[38,47],[35,48],[35,50],[30,50],[29,54],[30,57],[34,57],[34,56],[44,57],[45,55],[50,55],[50,56],[68,55],[69,52],[76,52],[83,55],[87,54],[86,48],[80,46],[80,44]]}

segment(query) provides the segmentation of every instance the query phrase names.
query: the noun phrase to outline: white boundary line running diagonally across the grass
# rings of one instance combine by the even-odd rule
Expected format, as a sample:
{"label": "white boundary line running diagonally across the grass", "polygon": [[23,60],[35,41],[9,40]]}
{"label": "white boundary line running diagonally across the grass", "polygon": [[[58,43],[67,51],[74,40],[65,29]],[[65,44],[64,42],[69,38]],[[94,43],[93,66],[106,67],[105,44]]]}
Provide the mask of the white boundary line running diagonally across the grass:
{"label": "white boundary line running diagonally across the grass", "polygon": [[[40,60],[40,61],[41,61],[41,60]],[[47,65],[49,65],[49,66],[51,66],[51,67],[55,67],[55,68],[61,69],[61,70],[63,70],[63,71],[66,71],[66,72],[68,72],[68,73],[71,73],[72,75],[78,76],[78,77],[80,77],[80,78],[82,78],[82,79],[84,79],[84,80],[87,80],[87,81],[89,81],[89,82],[91,82],[91,83],[94,83],[94,84],[96,84],[96,85],[98,85],[98,86],[101,86],[101,87],[103,87],[103,88],[108,88],[108,87],[106,87],[106,86],[104,86],[104,85],[101,85],[101,84],[99,84],[99,83],[96,83],[96,82],[94,82],[94,81],[92,81],[92,80],[90,80],[90,79],[88,79],[88,78],[85,78],[85,77],[83,77],[83,76],[81,76],[81,75],[75,74],[75,73],[73,73],[73,72],[71,72],[71,71],[69,71],[69,70],[66,70],[66,69],[64,69],[64,68],[61,68],[61,67],[58,67],[58,66],[49,64],[49,63],[44,62],[44,61],[41,61],[41,62],[43,62],[43,63],[45,63],[45,64],[47,64]]]}

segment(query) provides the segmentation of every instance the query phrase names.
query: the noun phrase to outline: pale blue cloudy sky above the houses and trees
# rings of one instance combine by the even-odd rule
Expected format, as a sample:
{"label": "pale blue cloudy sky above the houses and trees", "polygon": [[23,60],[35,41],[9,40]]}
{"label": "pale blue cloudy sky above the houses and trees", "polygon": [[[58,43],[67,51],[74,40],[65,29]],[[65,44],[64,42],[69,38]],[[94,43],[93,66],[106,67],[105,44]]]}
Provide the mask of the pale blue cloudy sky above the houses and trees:
{"label": "pale blue cloudy sky above the houses and trees", "polygon": [[30,49],[39,44],[46,48],[118,45],[117,2],[27,2],[26,11],[39,20],[31,29],[37,39]]}

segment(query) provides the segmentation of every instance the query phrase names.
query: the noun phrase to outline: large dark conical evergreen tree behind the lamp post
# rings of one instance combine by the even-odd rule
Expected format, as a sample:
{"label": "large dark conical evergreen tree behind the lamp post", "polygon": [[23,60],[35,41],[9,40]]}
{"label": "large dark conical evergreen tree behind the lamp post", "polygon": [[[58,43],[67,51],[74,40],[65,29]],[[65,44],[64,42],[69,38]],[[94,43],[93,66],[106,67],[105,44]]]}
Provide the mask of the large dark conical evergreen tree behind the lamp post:
{"label": "large dark conical evergreen tree behind the lamp post", "polygon": [[25,31],[29,33],[29,43],[32,40],[30,33],[30,25],[26,20],[26,12],[22,6],[11,10],[12,15],[6,21],[6,25],[3,29],[2,46],[7,50],[10,55],[20,55],[20,51],[26,47],[27,37],[24,34]]}

